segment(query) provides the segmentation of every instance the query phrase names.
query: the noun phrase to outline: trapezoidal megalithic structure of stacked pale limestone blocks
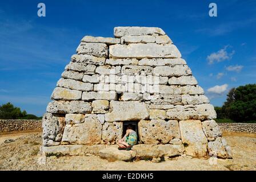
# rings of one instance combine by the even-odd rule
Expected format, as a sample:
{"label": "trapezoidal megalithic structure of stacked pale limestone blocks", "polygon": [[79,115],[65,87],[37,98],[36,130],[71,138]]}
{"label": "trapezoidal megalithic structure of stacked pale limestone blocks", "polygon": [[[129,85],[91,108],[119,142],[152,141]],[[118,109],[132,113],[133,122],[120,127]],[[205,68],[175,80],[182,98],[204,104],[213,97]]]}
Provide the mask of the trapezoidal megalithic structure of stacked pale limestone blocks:
{"label": "trapezoidal megalithic structure of stacked pale limestone blocks", "polygon": [[213,105],[165,32],[115,27],[114,36],[81,40],[43,116],[44,150],[106,156],[102,146],[132,123],[140,144],[122,159],[145,151],[230,158]]}

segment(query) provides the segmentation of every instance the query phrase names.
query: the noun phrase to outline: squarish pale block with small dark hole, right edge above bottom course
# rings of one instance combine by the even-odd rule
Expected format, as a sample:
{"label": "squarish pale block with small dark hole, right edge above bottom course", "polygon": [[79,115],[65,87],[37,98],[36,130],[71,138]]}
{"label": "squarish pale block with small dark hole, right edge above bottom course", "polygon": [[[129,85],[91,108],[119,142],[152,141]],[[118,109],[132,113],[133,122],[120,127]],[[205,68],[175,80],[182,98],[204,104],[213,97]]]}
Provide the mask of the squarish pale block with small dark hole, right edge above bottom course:
{"label": "squarish pale block with small dark hole, right edge above bottom course", "polygon": [[217,114],[214,110],[214,106],[211,104],[199,104],[196,105],[198,118],[200,119],[216,119]]}

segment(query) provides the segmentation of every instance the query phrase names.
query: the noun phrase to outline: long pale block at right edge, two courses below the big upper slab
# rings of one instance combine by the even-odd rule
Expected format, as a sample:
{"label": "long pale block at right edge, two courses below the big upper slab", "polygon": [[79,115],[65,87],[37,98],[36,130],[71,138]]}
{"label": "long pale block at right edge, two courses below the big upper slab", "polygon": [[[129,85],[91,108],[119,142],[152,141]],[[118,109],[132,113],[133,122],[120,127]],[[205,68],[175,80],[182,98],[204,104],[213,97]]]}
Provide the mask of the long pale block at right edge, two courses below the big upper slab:
{"label": "long pale block at right edge, two courses below the big upper slab", "polygon": [[158,76],[189,76],[191,75],[191,70],[187,65],[175,65],[155,67],[153,71],[154,75]]}

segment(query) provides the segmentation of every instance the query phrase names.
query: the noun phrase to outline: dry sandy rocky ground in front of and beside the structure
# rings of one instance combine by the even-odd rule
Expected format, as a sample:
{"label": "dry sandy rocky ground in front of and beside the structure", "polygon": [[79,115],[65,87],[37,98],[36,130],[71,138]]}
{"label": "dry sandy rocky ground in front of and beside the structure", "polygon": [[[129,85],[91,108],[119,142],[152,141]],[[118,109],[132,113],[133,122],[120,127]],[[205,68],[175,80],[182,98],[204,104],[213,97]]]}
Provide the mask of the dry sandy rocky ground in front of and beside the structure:
{"label": "dry sandy rocky ground in front of and beside the structure", "polygon": [[[6,139],[13,139],[5,143]],[[256,135],[226,133],[233,159],[197,159],[189,156],[161,163],[140,160],[109,162],[98,156],[50,156],[40,154],[41,133],[0,135],[1,170],[256,170]]]}

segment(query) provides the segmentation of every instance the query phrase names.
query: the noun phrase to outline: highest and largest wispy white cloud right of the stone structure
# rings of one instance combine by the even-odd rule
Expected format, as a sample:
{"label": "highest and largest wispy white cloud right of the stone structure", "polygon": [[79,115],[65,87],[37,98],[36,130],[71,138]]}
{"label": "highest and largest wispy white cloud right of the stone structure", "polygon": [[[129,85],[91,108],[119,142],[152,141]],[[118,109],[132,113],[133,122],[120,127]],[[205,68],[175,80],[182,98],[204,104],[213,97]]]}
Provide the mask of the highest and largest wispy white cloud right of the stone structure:
{"label": "highest and largest wispy white cloud right of the stone structure", "polygon": [[213,52],[209,56],[207,56],[206,60],[209,64],[213,64],[215,61],[217,63],[225,60],[230,60],[234,55],[235,51],[231,51],[230,53],[226,51],[229,46],[225,46],[223,49],[220,49],[218,52]]}

